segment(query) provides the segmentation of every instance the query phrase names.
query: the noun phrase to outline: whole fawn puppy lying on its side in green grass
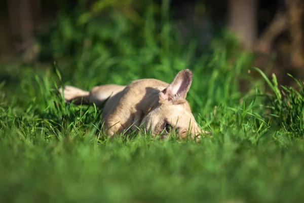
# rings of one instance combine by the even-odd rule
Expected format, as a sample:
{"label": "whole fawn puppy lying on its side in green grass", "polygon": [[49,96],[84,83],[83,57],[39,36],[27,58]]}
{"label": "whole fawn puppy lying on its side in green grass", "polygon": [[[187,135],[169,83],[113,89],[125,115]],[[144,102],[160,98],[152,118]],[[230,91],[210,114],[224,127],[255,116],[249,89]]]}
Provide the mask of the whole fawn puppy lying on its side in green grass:
{"label": "whole fawn puppy lying on its side in green grass", "polygon": [[[101,107],[103,130],[109,137],[124,131],[142,129],[152,136],[166,138],[175,130],[179,138],[200,138],[202,130],[196,123],[186,101],[192,83],[192,72],[182,70],[171,84],[157,79],[140,79],[127,86],[108,84],[91,91],[65,86],[60,94],[66,103]],[[107,99],[107,100],[106,100]]]}

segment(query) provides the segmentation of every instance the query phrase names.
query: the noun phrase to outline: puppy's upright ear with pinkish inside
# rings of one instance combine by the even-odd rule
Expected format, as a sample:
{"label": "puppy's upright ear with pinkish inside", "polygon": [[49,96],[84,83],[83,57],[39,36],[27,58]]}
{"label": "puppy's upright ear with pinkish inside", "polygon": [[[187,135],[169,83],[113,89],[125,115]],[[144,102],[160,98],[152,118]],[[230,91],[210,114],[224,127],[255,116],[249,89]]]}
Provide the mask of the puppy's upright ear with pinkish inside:
{"label": "puppy's upright ear with pinkish inside", "polygon": [[160,103],[185,99],[192,83],[192,72],[188,69],[177,73],[171,84],[160,92]]}

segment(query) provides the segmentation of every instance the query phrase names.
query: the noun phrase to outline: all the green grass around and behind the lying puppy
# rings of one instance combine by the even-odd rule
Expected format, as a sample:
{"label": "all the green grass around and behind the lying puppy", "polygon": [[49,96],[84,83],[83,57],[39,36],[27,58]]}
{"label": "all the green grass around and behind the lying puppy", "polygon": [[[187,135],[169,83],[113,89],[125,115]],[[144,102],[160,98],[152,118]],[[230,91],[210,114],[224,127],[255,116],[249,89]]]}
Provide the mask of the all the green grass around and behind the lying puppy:
{"label": "all the green grass around and behind the lying puppy", "polygon": [[[3,65],[1,201],[302,201],[301,91],[283,87],[281,93],[275,77],[258,69],[251,71],[272,94],[252,81],[249,91],[240,91],[251,55],[237,51],[227,32],[202,51],[195,41],[180,43],[173,23],[154,24],[153,7],[147,8],[144,26],[116,12],[104,26],[98,17],[80,26],[77,18],[59,15],[51,34],[38,38],[40,61]],[[185,68],[194,73],[187,99],[201,127],[213,133],[199,143],[141,133],[97,140],[104,136],[102,112],[65,105],[57,92],[65,84],[170,82]]]}

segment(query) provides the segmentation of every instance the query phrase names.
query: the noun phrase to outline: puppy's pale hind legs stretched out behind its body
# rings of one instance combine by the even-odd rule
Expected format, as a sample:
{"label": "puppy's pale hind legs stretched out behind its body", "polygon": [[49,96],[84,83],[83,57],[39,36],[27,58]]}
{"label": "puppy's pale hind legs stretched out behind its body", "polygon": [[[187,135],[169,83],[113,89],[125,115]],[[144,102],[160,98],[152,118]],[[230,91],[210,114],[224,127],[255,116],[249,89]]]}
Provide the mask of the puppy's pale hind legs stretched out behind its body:
{"label": "puppy's pale hind legs stretched out behind its body", "polygon": [[117,94],[125,88],[123,85],[100,85],[93,87],[90,91],[85,91],[73,86],[65,86],[63,91],[59,89],[61,96],[64,94],[65,103],[74,101],[75,105],[100,106],[108,97]]}

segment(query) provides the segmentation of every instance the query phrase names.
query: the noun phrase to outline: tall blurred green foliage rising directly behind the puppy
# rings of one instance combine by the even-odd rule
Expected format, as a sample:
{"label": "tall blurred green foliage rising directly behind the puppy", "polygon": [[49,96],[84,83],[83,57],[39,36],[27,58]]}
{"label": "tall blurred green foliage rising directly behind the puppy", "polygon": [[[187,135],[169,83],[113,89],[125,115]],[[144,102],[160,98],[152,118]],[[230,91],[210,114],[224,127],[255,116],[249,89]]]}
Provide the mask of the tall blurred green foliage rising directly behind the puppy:
{"label": "tall blurred green foliage rising directly behind the puppy", "polygon": [[[223,95],[230,100],[252,59],[250,54],[238,51],[238,43],[231,33],[214,31],[212,41],[205,47],[198,47],[200,36],[186,44],[169,17],[169,1],[164,1],[160,8],[153,2],[137,5],[141,8],[136,11],[141,16],[140,24],[121,12],[121,8],[131,9],[132,2],[120,3],[96,1],[91,6],[96,12],[78,6],[69,14],[59,13],[57,20],[40,35],[41,60],[56,61],[62,81],[81,88],[127,84],[144,77],[169,82],[177,71],[188,68],[194,71],[194,79],[202,82],[193,85],[194,91],[212,84],[204,95],[196,98],[198,102],[206,103],[207,97],[215,97],[210,103],[214,106]],[[94,17],[79,24],[88,12],[94,13]],[[218,77],[219,74],[225,79]],[[234,85],[227,85],[231,82]]]}

